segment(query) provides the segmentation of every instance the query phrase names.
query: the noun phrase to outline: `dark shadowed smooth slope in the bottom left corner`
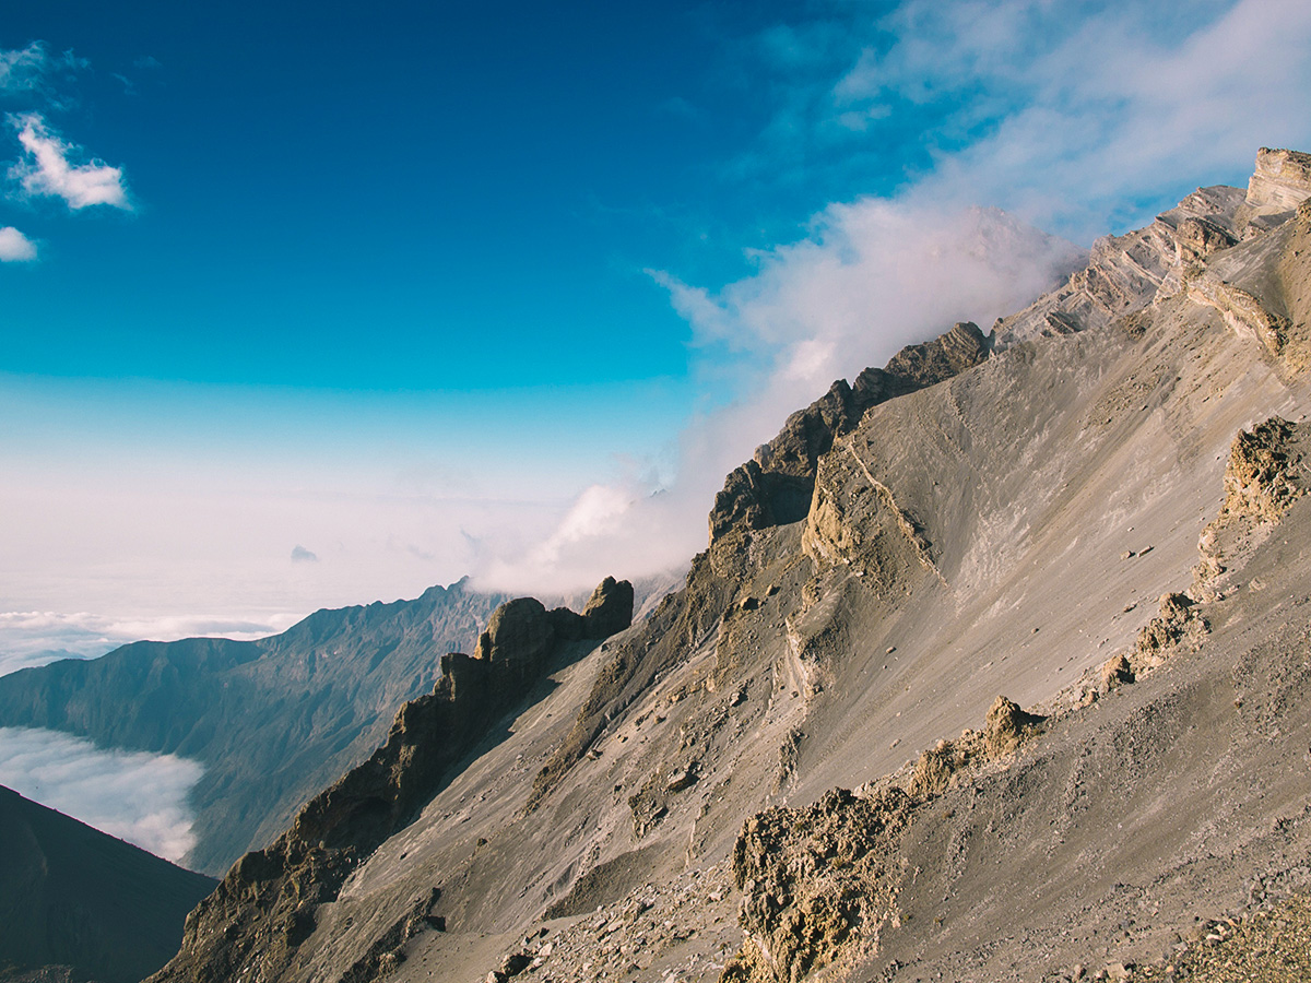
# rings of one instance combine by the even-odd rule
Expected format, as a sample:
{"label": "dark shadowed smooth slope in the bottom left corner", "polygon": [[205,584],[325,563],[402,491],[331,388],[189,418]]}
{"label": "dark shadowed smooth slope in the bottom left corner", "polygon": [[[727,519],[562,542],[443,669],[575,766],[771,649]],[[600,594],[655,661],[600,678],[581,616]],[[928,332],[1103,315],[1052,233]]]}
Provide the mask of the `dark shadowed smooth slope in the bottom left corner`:
{"label": "dark shadowed smooth slope in the bottom left corner", "polygon": [[134,983],[215,881],[0,788],[0,979]]}

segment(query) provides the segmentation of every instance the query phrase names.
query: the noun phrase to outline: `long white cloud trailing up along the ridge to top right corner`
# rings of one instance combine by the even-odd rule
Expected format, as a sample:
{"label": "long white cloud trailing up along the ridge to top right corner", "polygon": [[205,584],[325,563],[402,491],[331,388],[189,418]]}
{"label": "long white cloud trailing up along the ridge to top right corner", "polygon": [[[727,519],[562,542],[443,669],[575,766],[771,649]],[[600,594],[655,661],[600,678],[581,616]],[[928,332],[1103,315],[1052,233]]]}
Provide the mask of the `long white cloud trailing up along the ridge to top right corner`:
{"label": "long white cloud trailing up along the ridge to top right corner", "polygon": [[679,438],[674,480],[635,468],[593,485],[535,547],[488,560],[481,586],[561,590],[686,562],[724,476],[832,379],[956,320],[987,330],[1054,286],[1068,244],[978,206],[1086,237],[1150,220],[1190,182],[1240,180],[1262,144],[1311,142],[1301,0],[911,0],[823,17],[829,30],[788,33],[780,76],[819,67],[777,87],[775,118],[734,169],[805,182],[829,166],[815,160],[877,157],[881,126],[906,126],[902,114],[931,121],[918,139],[932,169],[889,197],[830,204],[722,288],[654,273],[692,326],[709,406]]}

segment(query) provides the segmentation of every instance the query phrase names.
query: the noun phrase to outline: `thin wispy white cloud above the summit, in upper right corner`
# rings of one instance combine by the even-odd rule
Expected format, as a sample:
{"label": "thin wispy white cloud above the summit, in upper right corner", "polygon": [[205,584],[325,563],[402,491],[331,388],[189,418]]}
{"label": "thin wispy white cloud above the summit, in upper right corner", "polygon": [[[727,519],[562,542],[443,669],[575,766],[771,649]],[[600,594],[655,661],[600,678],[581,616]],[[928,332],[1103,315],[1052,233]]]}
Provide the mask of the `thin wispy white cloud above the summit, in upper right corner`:
{"label": "thin wispy white cloud above the summit, in upper right corner", "polygon": [[916,190],[940,201],[1091,237],[1150,219],[1145,198],[1242,174],[1261,145],[1311,144],[1301,0],[911,0],[878,26],[895,42],[840,75],[832,113],[923,114],[933,170]]}

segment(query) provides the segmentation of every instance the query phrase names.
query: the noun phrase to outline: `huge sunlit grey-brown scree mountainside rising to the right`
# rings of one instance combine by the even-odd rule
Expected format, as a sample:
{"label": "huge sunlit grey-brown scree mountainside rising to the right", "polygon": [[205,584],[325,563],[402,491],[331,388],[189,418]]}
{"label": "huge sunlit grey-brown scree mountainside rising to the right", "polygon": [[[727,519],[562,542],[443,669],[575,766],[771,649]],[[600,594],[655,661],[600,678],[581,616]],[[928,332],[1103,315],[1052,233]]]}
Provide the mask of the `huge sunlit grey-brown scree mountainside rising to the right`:
{"label": "huge sunlit grey-brown scree mountainside rising to the right", "polygon": [[159,979],[1106,978],[1311,887],[1308,197],[1261,151],[835,384],[649,619],[450,767],[448,675]]}

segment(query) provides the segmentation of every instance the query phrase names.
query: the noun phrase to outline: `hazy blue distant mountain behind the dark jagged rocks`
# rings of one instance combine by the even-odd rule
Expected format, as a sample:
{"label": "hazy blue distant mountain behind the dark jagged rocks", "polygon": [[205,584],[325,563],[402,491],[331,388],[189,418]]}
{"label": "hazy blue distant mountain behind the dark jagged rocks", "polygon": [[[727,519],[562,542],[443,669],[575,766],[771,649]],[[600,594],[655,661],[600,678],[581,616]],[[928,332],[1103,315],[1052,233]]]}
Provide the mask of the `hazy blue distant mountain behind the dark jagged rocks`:
{"label": "hazy blue distant mountain behind the dark jagged rocks", "polygon": [[465,583],[414,600],[316,611],[254,642],[136,642],[0,676],[0,726],[205,764],[193,801],[199,870],[222,873],[368,756],[406,700],[431,691],[505,598]]}

